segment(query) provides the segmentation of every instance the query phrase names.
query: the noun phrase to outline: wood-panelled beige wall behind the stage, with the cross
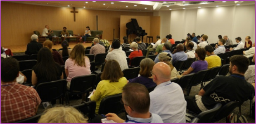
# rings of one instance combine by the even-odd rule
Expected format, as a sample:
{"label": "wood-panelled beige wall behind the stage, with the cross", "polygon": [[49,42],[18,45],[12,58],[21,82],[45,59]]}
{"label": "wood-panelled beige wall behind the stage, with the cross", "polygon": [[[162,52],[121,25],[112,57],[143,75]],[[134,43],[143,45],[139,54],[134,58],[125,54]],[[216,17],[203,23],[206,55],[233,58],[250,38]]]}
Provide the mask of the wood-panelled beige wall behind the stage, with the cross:
{"label": "wood-panelled beige wall behind the stage, with the cross", "polygon": [[[113,29],[115,29],[115,37],[119,36],[121,15],[153,16],[153,12],[77,8],[78,14],[74,22],[71,10],[73,8],[1,2],[1,46],[27,44],[33,31],[38,30],[42,33],[45,25],[49,25],[52,30],[62,30],[65,26],[67,30],[73,30],[74,34],[83,34],[86,26],[90,26],[91,30],[96,30],[96,15],[98,15],[98,30],[103,30],[102,38],[112,40]],[[120,36],[123,37],[123,35]]]}

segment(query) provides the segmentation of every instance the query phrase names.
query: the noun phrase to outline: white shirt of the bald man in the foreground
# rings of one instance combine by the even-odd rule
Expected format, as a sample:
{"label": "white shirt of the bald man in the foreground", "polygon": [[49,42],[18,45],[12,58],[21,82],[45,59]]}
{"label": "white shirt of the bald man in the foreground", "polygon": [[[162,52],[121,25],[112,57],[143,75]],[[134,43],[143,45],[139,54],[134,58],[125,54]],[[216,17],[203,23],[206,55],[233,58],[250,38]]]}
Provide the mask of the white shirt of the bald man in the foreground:
{"label": "white shirt of the bald man in the foreground", "polygon": [[187,102],[180,85],[171,81],[161,83],[149,93],[149,111],[159,115],[164,123],[185,123]]}

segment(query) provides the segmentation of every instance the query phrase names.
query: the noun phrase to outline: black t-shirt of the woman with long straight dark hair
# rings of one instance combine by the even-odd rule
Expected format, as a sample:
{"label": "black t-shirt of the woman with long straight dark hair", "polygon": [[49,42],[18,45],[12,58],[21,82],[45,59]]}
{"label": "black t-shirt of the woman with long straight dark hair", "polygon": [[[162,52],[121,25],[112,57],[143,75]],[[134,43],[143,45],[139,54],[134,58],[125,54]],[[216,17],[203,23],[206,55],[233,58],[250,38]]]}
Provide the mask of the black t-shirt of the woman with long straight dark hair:
{"label": "black t-shirt of the woman with long straight dark hair", "polygon": [[[62,76],[62,67],[58,64],[58,63],[55,63],[56,64],[56,67],[57,67],[57,70],[56,70],[56,75],[57,75],[57,80],[60,80],[60,77]],[[36,77],[37,77],[37,84],[40,84],[40,83],[45,83],[45,82],[50,82],[50,81],[55,81],[55,80],[47,80],[47,78],[43,75],[39,75],[38,71],[40,70],[39,67],[37,67],[37,65],[35,65],[33,67],[33,71],[36,73]],[[47,72],[45,72],[47,73]]]}

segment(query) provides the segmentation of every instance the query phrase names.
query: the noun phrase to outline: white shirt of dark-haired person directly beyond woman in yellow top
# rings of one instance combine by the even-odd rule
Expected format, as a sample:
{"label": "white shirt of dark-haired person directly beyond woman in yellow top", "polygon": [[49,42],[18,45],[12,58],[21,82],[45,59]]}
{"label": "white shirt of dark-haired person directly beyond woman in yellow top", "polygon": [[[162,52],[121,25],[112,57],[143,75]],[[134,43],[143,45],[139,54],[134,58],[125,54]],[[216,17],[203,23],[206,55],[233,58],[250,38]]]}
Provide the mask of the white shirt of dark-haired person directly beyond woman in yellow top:
{"label": "white shirt of dark-haired person directly beyond woman in yellow top", "polygon": [[122,49],[114,49],[112,52],[107,54],[106,60],[116,60],[121,67],[121,70],[128,69],[128,64],[126,60],[126,53]]}

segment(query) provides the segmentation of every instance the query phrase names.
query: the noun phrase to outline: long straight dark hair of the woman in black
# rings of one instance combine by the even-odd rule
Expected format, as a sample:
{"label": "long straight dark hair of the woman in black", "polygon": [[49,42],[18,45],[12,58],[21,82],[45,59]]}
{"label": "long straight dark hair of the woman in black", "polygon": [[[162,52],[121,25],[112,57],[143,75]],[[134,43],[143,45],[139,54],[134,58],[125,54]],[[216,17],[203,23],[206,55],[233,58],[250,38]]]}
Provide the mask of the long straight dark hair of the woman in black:
{"label": "long straight dark hair of the woman in black", "polygon": [[43,76],[47,81],[57,80],[57,67],[49,48],[41,48],[38,52],[37,64],[38,75]]}

